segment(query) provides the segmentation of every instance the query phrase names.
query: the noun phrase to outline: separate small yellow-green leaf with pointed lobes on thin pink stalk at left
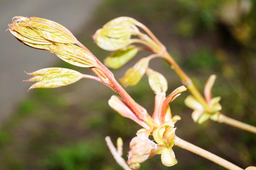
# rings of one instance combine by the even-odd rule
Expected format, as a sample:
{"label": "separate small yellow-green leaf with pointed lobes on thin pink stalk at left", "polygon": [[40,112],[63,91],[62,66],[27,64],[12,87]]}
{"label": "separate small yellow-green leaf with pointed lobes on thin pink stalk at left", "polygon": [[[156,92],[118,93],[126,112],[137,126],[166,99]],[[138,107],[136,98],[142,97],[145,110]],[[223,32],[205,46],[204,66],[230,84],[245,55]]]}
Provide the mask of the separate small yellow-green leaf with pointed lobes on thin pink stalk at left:
{"label": "separate small yellow-green leaf with pointed lobes on thin pink stalk at left", "polygon": [[60,86],[66,86],[77,82],[83,77],[83,75],[77,71],[67,68],[43,68],[32,73],[27,73],[32,77],[25,82],[37,82],[30,88],[55,88]]}

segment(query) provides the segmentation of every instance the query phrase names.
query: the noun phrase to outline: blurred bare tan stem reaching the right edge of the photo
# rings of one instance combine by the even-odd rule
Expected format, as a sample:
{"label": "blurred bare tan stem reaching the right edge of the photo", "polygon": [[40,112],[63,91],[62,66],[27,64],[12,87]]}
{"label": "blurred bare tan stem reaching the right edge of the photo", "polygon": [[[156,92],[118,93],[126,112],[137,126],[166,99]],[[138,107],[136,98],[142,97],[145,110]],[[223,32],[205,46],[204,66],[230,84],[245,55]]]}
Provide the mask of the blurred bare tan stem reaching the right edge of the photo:
{"label": "blurred bare tan stem reaching the right edge of the photo", "polygon": [[219,113],[219,115],[216,117],[211,117],[212,120],[214,121],[218,121],[219,123],[224,123],[224,124],[228,124],[230,126],[234,126],[236,128],[240,128],[242,130],[246,130],[248,132],[252,132],[256,134],[256,127],[249,125],[249,124],[245,124],[243,122],[240,122],[238,120],[232,119],[230,117],[227,117],[225,115],[222,115],[221,113]]}

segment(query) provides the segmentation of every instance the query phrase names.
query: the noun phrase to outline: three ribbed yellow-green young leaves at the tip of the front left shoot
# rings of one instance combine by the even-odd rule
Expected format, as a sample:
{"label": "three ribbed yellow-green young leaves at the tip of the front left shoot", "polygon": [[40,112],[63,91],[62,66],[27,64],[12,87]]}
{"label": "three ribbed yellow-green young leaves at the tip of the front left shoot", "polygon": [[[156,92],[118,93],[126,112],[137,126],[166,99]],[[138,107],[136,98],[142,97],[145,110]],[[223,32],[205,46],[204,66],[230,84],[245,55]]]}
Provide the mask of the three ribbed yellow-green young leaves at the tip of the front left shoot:
{"label": "three ribbed yellow-green young leaves at the tip of the front left shoot", "polygon": [[[9,31],[20,42],[36,49],[55,53],[65,62],[79,67],[98,67],[90,51],[75,45],[79,42],[74,35],[56,22],[43,18],[17,16],[13,18],[13,23],[9,24]],[[65,86],[88,77],[67,68],[44,68],[27,74],[35,77],[26,81],[37,82],[29,90]]]}

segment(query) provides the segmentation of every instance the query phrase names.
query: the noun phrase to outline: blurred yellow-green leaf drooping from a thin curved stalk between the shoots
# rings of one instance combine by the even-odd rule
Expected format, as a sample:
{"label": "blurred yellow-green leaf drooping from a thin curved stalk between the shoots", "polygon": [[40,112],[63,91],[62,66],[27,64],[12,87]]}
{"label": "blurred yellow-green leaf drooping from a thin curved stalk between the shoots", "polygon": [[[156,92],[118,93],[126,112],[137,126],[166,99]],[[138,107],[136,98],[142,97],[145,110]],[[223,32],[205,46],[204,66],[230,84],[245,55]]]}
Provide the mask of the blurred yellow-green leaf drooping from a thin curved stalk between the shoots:
{"label": "blurred yellow-green leaf drooping from a thin curved stalk between the shoots", "polygon": [[120,79],[124,86],[134,86],[139,83],[142,76],[146,73],[150,58],[141,58],[133,67],[129,68],[125,75]]}

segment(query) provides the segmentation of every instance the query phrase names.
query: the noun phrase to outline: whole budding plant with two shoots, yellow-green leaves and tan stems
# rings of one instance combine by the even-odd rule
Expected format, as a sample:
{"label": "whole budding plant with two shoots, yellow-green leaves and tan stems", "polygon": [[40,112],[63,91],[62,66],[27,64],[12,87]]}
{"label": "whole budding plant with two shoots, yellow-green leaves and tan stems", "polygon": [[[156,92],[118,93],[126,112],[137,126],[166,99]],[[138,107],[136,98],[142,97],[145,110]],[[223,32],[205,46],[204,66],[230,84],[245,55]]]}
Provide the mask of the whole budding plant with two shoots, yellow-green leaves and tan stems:
{"label": "whole budding plant with two shoots, yellow-green leaves and tan stems", "polygon": [[[141,29],[143,32],[140,31]],[[9,31],[20,42],[28,46],[55,53],[65,62],[79,67],[90,68],[95,73],[95,75],[85,75],[67,68],[44,68],[27,73],[34,77],[26,81],[36,82],[29,90],[32,88],[66,86],[81,78],[89,78],[105,84],[117,93],[118,96],[113,95],[108,101],[110,107],[142,127],[137,131],[137,137],[130,141],[127,162],[121,157],[121,138],[117,140],[117,148],[115,148],[110,138],[106,137],[112,155],[124,169],[130,170],[132,168],[137,170],[140,168],[140,163],[158,154],[161,154],[163,165],[173,166],[177,163],[173,146],[179,146],[229,170],[242,170],[242,168],[229,161],[194,146],[175,135],[175,123],[181,117],[178,115],[172,116],[169,104],[187,89],[191,92],[191,95],[186,98],[185,104],[194,110],[192,118],[195,122],[201,124],[207,119],[212,119],[213,121],[226,123],[254,133],[256,133],[256,128],[227,118],[220,113],[222,108],[219,103],[220,97],[211,98],[211,88],[216,79],[215,75],[210,76],[205,85],[204,97],[202,97],[188,75],[182,71],[166,51],[166,47],[144,24],[133,18],[119,17],[109,21],[96,31],[93,39],[97,45],[102,49],[112,51],[104,60],[104,64],[83,46],[70,31],[56,22],[43,18],[17,16],[13,18],[13,23],[9,24]],[[141,58],[133,67],[129,68],[120,79],[120,82],[125,87],[134,86],[144,75],[148,76],[149,85],[155,93],[155,109],[152,116],[128,95],[123,86],[117,82],[112,72],[106,67],[120,68],[141,50],[150,51],[153,54]],[[157,57],[164,59],[172,66],[184,85],[176,88],[167,97],[167,80],[161,73],[149,68],[150,60]],[[153,136],[154,141],[149,139],[149,135]],[[256,167],[248,167],[246,170],[254,168]]]}

